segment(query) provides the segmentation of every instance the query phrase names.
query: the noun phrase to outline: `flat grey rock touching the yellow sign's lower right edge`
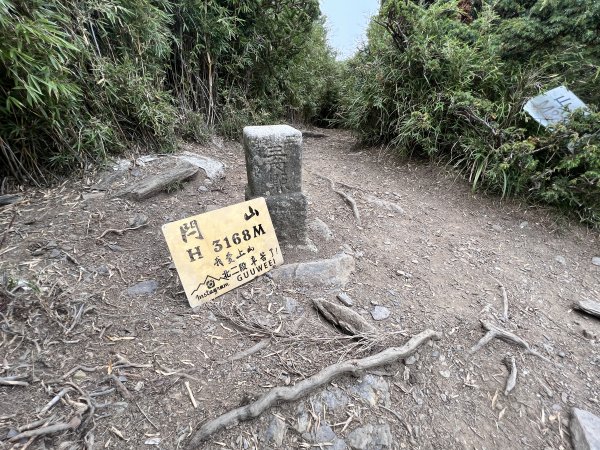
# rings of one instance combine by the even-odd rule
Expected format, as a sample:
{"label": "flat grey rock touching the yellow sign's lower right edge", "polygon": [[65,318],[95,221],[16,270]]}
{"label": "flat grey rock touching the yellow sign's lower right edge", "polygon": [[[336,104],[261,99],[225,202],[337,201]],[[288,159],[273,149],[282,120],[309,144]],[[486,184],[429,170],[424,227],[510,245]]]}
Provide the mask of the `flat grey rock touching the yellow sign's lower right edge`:
{"label": "flat grey rock touching the yellow sign's lower right edge", "polygon": [[296,281],[311,286],[343,287],[354,271],[354,258],[344,253],[331,259],[307,263],[286,264],[273,269],[270,274],[275,281]]}

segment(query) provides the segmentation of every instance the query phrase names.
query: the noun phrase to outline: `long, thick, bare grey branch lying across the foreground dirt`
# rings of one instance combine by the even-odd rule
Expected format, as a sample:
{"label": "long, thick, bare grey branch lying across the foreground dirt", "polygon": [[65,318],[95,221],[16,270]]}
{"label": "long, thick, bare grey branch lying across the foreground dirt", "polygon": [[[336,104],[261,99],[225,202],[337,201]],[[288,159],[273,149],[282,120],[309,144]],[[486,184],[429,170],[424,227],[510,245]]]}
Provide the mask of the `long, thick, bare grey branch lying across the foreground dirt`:
{"label": "long, thick, bare grey branch lying across the foreground dirt", "polygon": [[389,347],[386,350],[362,359],[351,359],[325,367],[315,375],[300,381],[295,386],[280,386],[271,389],[258,400],[240,408],[233,409],[225,414],[209,420],[192,436],[187,445],[188,450],[203,448],[202,442],[209,436],[225,427],[235,425],[240,421],[254,419],[260,416],[273,404],[284,401],[298,400],[309,392],[329,383],[335,377],[347,373],[359,373],[374,367],[389,364],[398,359],[406,358],[412,354],[420,345],[431,339],[440,339],[440,333],[433,330],[425,330],[413,336],[402,347]]}

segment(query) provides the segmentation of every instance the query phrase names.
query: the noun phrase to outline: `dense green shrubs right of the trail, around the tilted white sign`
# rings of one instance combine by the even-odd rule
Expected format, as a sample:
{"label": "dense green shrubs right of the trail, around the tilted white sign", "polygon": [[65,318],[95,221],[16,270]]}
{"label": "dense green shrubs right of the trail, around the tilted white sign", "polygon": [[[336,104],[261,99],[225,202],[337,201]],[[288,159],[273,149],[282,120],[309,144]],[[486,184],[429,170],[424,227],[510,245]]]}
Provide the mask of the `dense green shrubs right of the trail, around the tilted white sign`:
{"label": "dense green shrubs right of the trail, around the tilted white sign", "polygon": [[560,84],[593,108],[595,3],[387,0],[346,66],[341,122],[364,142],[451,161],[474,187],[600,224],[600,115],[546,130],[522,111]]}

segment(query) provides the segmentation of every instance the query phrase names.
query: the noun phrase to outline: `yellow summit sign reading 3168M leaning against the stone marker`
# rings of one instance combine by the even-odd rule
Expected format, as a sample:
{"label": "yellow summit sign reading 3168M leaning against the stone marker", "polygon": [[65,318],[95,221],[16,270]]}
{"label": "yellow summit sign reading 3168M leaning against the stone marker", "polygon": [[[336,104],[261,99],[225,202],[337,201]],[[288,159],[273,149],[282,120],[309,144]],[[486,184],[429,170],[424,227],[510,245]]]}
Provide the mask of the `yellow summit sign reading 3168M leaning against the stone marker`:
{"label": "yellow summit sign reading 3168M leaning against the stone marker", "polygon": [[262,197],[167,223],[162,231],[192,308],[283,263]]}

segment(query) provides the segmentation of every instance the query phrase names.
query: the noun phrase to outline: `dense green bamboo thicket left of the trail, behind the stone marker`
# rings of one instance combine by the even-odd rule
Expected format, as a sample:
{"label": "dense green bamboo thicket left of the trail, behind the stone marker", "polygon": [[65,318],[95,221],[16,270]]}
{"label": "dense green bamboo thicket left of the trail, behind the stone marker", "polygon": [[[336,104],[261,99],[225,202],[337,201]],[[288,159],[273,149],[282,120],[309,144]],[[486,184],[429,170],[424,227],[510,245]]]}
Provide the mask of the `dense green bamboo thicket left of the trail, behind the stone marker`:
{"label": "dense green bamboo thicket left of the trail, behind the stone marker", "polygon": [[317,0],[0,0],[0,176],[310,120],[325,64]]}

